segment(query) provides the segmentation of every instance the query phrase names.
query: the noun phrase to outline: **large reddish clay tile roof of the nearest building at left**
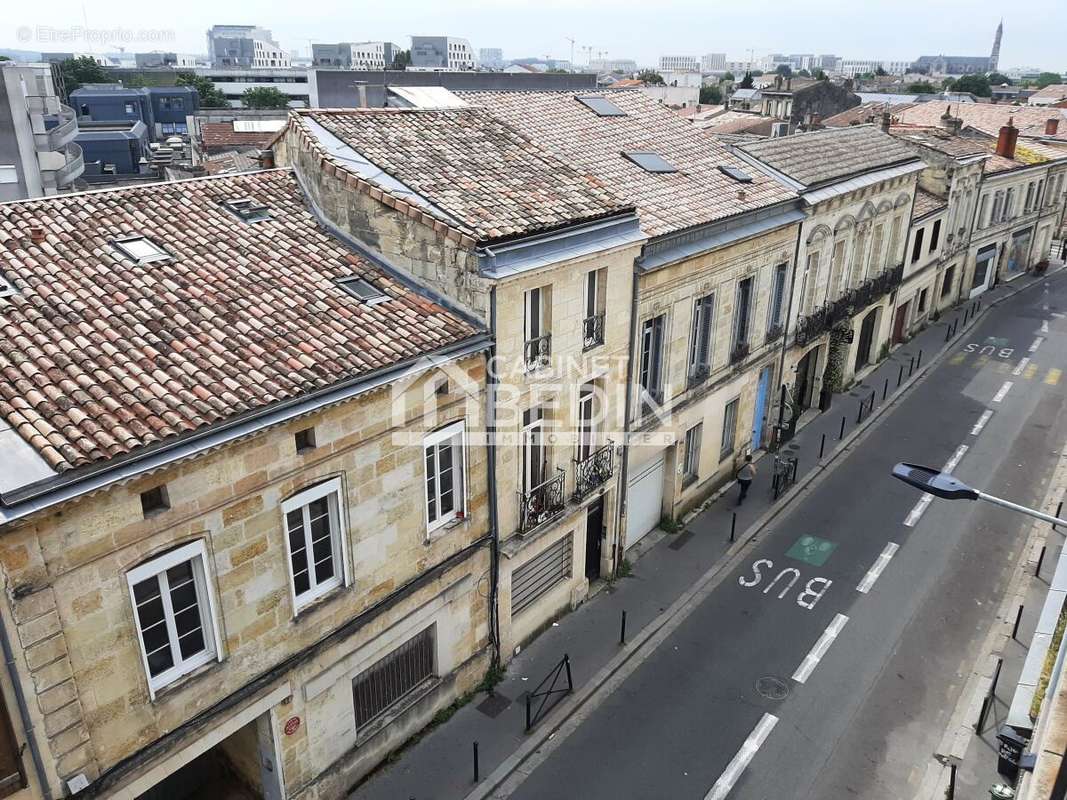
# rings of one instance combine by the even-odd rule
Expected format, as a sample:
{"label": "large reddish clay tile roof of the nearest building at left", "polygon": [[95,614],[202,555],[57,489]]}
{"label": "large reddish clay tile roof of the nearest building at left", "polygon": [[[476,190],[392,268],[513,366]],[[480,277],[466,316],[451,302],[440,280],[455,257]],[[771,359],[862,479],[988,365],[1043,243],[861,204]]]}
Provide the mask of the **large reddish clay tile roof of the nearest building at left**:
{"label": "large reddish clay tile roof of the nearest building at left", "polygon": [[[220,205],[235,197],[271,218]],[[130,235],[173,258],[124,257]],[[329,236],[287,170],[0,204],[0,271],[18,290],[0,300],[0,417],[60,471],[476,333]],[[348,275],[388,300],[354,299]]]}

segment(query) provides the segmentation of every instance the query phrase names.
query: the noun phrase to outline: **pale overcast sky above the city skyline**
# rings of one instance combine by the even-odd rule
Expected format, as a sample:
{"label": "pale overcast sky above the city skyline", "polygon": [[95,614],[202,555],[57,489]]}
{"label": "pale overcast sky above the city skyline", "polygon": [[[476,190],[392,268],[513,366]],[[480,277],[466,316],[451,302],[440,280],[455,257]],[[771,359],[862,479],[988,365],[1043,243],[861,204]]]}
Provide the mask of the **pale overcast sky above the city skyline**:
{"label": "pale overcast sky above the city skyline", "polygon": [[[726,52],[747,58],[769,52],[834,53],[844,58],[911,60],[920,54],[984,55],[1001,15],[1001,66],[1067,68],[1067,2],[1030,0],[1019,6],[992,0],[4,0],[0,47],[92,50],[113,46],[41,41],[41,27],[122,27],[134,51],[206,52],[205,31],[214,23],[270,28],[287,50],[307,51],[308,41],[387,39],[404,47],[412,34],[446,34],[480,47],[500,47],[505,58],[552,55],[575,61],[633,58],[654,64],[660,54]],[[132,20],[137,20],[136,22]],[[137,41],[139,30],[163,38]]]}

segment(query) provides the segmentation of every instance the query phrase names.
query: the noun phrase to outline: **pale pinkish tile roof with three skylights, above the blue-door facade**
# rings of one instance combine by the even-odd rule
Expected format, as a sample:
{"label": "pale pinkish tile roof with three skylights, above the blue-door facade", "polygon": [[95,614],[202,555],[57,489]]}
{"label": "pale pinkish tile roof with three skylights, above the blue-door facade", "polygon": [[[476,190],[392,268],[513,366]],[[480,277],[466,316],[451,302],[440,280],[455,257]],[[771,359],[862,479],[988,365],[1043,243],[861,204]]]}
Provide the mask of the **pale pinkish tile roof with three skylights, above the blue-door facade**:
{"label": "pale pinkish tile roof with three skylights, above the blue-door facade", "polygon": [[[599,177],[637,205],[641,228],[659,236],[743,211],[789,201],[796,195],[753,170],[726,145],[696,129],[669,108],[639,91],[607,92],[461,92],[471,103],[487,107],[534,141]],[[599,116],[577,97],[602,96],[624,116]],[[622,156],[652,151],[678,169],[649,173]],[[719,171],[734,166],[752,177],[737,183]],[[745,199],[737,198],[738,189]]]}

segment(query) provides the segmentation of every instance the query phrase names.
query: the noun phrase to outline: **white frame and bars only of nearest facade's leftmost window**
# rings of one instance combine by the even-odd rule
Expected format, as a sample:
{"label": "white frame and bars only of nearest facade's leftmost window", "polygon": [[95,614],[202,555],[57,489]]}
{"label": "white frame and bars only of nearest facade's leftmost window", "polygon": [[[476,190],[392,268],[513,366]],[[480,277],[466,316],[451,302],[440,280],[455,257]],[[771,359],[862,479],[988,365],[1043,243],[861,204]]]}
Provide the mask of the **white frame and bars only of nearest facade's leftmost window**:
{"label": "white frame and bars only of nearest facade's leftmost window", "polygon": [[[181,651],[177,645],[178,638],[177,630],[174,627],[174,609],[171,607],[170,591],[164,593],[161,589],[160,598],[163,603],[163,622],[166,625],[170,638],[174,666],[153,676],[148,669],[148,653],[144,647],[144,637],[141,633],[141,618],[138,613],[133,587],[149,578],[158,580],[158,576],[161,573],[165,573],[171,567],[182,564],[186,561],[192,563],[196,603],[202,609],[201,625],[204,633],[204,650],[184,661],[180,660]],[[144,667],[144,675],[148,681],[148,694],[153,700],[156,699],[157,692],[164,686],[173,684],[178,678],[200,669],[205,663],[222,660],[222,637],[219,635],[219,620],[216,612],[218,604],[214,597],[214,585],[208,580],[207,548],[204,546],[204,540],[190,542],[140,566],[134,566],[126,573],[126,586],[129,591],[130,605],[133,609],[133,627],[136,628],[134,635],[137,636],[138,647],[141,651],[141,665]]]}

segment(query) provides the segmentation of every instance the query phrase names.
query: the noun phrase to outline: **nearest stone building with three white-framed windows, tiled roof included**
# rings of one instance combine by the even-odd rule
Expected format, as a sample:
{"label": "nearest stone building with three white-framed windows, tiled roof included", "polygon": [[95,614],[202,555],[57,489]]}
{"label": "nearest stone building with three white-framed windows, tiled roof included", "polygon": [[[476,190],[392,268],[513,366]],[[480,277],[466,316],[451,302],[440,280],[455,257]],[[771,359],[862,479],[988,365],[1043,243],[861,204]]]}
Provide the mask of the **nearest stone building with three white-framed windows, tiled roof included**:
{"label": "nearest stone building with three white-framed windows, tiled roof included", "polygon": [[0,205],[0,764],[340,798],[493,658],[484,326],[289,170],[91,197]]}

